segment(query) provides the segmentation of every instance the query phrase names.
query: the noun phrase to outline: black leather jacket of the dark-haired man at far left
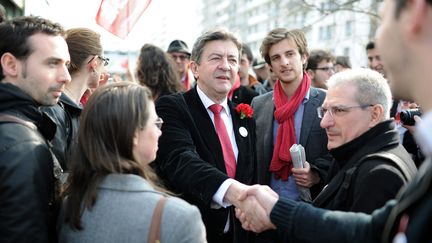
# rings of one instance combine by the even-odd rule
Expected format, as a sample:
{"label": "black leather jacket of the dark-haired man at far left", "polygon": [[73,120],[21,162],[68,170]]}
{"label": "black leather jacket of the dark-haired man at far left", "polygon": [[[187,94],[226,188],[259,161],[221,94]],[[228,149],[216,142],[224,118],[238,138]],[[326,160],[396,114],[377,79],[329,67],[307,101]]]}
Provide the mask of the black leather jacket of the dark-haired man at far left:
{"label": "black leather jacket of the dark-haired man at far left", "polygon": [[18,87],[0,83],[0,113],[32,122],[0,122],[0,242],[56,242],[55,124]]}

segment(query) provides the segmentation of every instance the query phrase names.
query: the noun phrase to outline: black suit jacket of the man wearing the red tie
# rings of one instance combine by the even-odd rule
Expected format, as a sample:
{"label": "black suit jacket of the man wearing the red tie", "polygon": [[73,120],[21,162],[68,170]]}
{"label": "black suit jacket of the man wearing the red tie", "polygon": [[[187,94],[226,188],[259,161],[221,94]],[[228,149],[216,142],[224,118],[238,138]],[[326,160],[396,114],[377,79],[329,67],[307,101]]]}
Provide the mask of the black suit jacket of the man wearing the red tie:
{"label": "black suit jacket of the man wearing the red tie", "polygon": [[[232,103],[228,102],[228,105],[239,151],[235,179],[252,184],[256,171],[255,123],[253,119],[240,119]],[[170,189],[198,206],[209,242],[219,241],[229,211],[236,239],[233,242],[248,242],[249,234],[234,220],[232,207],[210,207],[213,195],[228,176],[216,130],[196,88],[183,94],[160,97],[156,111],[164,120],[155,161],[159,176]],[[246,137],[240,135],[240,127],[247,129]],[[235,224],[232,224],[233,220]]]}

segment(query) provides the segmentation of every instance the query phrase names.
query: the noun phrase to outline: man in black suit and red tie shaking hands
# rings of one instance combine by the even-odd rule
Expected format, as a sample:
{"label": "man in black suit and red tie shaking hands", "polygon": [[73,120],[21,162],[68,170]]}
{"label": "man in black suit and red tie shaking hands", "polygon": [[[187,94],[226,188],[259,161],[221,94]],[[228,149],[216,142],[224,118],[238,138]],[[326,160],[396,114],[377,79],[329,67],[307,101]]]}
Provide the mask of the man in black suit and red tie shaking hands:
{"label": "man in black suit and red tie shaking hands", "polygon": [[[255,178],[255,125],[227,99],[239,68],[241,44],[225,31],[200,36],[192,50],[197,86],[161,97],[164,120],[156,158],[167,186],[199,207],[209,242],[250,242],[235,219],[238,194]],[[219,107],[220,113],[214,107]],[[223,124],[223,125],[221,125]]]}

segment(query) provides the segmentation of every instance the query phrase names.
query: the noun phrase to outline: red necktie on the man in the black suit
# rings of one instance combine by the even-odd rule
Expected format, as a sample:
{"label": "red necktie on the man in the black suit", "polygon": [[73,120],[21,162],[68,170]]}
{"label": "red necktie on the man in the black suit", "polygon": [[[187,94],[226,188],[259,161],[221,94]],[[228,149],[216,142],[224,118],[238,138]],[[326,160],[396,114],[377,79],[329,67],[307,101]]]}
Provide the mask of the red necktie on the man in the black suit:
{"label": "red necktie on the man in the black suit", "polygon": [[211,105],[209,109],[214,114],[214,122],[216,127],[216,133],[218,134],[219,141],[222,146],[222,152],[225,160],[225,168],[229,177],[235,177],[236,161],[234,151],[232,149],[231,141],[229,139],[225,123],[220,116],[222,106],[218,104]]}

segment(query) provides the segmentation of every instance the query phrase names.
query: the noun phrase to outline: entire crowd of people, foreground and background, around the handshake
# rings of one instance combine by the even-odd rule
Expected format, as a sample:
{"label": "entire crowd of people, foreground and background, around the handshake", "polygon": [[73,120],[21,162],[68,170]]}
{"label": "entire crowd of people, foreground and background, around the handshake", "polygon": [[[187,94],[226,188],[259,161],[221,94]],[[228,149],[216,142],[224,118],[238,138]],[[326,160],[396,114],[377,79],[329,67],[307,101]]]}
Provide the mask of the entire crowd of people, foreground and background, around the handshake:
{"label": "entire crowd of people, foreground and background, around the handshake", "polygon": [[0,9],[0,242],[432,242],[432,2],[384,5],[367,67],[215,28],[125,80]]}

